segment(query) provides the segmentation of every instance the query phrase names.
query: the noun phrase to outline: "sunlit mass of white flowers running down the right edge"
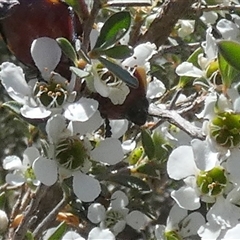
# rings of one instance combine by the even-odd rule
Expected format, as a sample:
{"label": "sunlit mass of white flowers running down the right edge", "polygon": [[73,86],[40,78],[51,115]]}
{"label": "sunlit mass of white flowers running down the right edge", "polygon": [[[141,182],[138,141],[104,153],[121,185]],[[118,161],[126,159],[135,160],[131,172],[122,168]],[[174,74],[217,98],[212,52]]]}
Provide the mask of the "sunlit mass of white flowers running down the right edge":
{"label": "sunlit mass of white flowers running down the right edge", "polygon": [[[239,17],[233,15],[232,19],[218,21],[216,28],[223,39],[239,41]],[[171,192],[177,207],[175,205],[171,210],[166,228],[156,227],[157,239],[182,239],[192,235],[211,240],[239,239],[239,84],[232,84],[222,93],[216,91],[214,80],[218,72],[209,74],[217,57],[217,40],[212,35],[212,27],[206,31],[202,48],[204,53],[198,55],[197,65],[183,62],[176,68],[176,73],[192,77],[195,84],[204,86],[205,105],[197,117],[203,121],[206,139],[193,139],[190,145],[177,147],[169,156],[168,175],[174,180],[183,180],[183,185]],[[188,215],[190,218],[200,207],[207,209],[206,223],[202,216],[197,217],[197,222],[189,220],[185,227],[189,224],[194,227],[186,234],[181,211],[184,216],[187,215],[185,210],[194,211]],[[174,213],[176,219],[182,220],[181,227],[176,225],[177,221],[172,223]]]}

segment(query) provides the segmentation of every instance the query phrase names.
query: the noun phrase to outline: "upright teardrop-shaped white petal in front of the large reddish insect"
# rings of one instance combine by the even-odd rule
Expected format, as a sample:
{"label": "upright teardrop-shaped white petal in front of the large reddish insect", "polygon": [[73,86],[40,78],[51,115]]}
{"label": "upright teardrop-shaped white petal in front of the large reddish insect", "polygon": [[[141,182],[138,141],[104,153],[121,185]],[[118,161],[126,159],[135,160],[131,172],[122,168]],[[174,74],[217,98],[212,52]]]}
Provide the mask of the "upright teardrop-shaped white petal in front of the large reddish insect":
{"label": "upright teardrop-shaped white petal in front of the large reddish insect", "polygon": [[62,50],[54,39],[41,37],[32,42],[31,55],[43,78],[48,81],[60,61]]}

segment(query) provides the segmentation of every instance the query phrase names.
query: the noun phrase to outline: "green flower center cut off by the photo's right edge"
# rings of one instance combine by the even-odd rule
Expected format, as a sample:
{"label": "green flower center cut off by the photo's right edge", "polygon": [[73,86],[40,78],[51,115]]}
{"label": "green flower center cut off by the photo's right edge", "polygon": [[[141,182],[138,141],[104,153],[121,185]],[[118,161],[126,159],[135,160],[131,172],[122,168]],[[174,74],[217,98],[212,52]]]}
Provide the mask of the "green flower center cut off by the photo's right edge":
{"label": "green flower center cut off by the photo's right edge", "polygon": [[240,114],[220,113],[210,123],[210,134],[215,141],[227,148],[240,144]]}

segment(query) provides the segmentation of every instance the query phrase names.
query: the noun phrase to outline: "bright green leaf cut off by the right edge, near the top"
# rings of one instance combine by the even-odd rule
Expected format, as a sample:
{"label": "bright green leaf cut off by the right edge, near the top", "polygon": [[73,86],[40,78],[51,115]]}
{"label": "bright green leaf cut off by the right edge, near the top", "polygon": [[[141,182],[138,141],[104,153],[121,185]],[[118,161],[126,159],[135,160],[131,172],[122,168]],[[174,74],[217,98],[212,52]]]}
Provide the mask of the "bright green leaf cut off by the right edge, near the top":
{"label": "bright green leaf cut off by the right edge, near the top", "polygon": [[218,43],[219,53],[227,63],[240,71],[240,44],[233,41],[221,41]]}

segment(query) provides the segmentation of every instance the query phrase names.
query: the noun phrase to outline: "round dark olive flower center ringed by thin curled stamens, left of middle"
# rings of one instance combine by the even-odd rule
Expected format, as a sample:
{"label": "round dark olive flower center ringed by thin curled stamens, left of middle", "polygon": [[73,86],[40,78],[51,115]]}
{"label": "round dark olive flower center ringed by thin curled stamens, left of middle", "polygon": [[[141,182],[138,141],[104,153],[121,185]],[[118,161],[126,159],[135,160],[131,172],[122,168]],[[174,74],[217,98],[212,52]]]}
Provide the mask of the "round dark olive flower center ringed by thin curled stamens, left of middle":
{"label": "round dark olive flower center ringed by thin curled stamens, left of middle", "polygon": [[69,137],[57,145],[56,158],[63,167],[76,170],[84,165],[88,154],[81,140]]}

